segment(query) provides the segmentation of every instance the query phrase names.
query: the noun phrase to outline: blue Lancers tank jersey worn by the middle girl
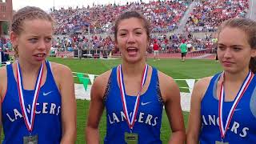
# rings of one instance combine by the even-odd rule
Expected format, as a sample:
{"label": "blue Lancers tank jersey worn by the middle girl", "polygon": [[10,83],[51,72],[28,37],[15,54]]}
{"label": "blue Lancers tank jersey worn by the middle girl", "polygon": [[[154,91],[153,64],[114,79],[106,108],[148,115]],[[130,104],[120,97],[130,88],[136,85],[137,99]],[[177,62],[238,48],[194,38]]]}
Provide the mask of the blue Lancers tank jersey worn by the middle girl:
{"label": "blue Lancers tank jersey worn by the middle girl", "polygon": [[[112,70],[106,89],[106,137],[104,143],[126,143],[125,132],[130,133],[122,108],[122,98],[117,82],[117,68]],[[162,143],[160,128],[162,123],[162,97],[159,90],[158,71],[153,69],[150,85],[140,96],[138,113],[133,133],[138,134],[138,143]],[[136,96],[126,95],[126,105],[130,116],[134,110]]]}

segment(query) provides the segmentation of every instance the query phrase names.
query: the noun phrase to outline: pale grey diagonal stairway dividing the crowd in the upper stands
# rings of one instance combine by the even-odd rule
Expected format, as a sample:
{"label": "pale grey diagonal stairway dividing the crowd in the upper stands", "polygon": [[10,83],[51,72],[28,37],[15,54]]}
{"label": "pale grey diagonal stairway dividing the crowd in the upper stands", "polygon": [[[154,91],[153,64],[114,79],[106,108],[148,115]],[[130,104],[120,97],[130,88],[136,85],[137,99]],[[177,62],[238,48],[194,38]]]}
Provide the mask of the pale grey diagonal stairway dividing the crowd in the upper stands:
{"label": "pale grey diagonal stairway dividing the crowd in the upper stands", "polygon": [[185,32],[185,26],[188,18],[190,17],[190,13],[193,11],[194,6],[197,5],[197,2],[191,2],[189,8],[186,10],[184,16],[180,20],[178,24],[178,29],[174,30],[174,34],[182,34]]}

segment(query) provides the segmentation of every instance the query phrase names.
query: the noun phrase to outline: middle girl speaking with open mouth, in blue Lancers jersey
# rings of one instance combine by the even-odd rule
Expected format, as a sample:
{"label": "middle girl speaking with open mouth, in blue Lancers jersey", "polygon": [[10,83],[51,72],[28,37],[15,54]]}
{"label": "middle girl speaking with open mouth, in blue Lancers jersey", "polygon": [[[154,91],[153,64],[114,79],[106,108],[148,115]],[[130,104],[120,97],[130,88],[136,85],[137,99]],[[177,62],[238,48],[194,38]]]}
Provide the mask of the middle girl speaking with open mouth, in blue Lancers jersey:
{"label": "middle girl speaking with open mouth, in blue Lancers jersey", "polygon": [[104,143],[162,143],[160,128],[165,106],[171,143],[184,143],[180,94],[173,78],[146,64],[149,23],[135,11],[123,13],[114,26],[122,64],[100,75],[91,89],[86,142],[99,143],[98,124],[106,108]]}

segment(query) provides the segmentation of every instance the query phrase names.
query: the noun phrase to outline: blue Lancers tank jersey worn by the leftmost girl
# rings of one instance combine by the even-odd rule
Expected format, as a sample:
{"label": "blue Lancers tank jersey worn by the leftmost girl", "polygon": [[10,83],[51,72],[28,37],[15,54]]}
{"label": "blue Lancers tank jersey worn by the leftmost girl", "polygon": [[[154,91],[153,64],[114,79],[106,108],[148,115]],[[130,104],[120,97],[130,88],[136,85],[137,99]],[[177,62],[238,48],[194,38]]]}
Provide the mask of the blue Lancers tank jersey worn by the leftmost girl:
{"label": "blue Lancers tank jersey worn by the leftmost girl", "polygon": [[[34,128],[31,135],[38,134],[38,143],[60,143],[62,138],[61,95],[54,82],[50,63],[46,61],[47,77],[41,87],[36,103]],[[18,98],[17,82],[12,65],[6,66],[7,91],[2,100],[2,126],[5,138],[2,143],[23,143],[23,137],[29,136]],[[23,79],[24,81],[24,79]],[[23,90],[24,102],[30,119],[34,90]]]}

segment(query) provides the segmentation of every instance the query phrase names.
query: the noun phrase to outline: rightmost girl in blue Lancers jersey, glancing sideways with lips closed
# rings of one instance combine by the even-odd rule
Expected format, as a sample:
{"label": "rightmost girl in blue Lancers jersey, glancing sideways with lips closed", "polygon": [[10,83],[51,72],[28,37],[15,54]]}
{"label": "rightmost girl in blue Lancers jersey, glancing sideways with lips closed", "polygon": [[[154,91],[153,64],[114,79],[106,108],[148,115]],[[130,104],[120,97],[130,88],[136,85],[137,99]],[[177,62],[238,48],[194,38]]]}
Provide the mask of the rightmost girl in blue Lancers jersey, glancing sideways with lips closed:
{"label": "rightmost girl in blue Lancers jersey, glancing sideways with lips closed", "polygon": [[256,143],[256,22],[223,22],[217,44],[223,72],[195,84],[187,143]]}

